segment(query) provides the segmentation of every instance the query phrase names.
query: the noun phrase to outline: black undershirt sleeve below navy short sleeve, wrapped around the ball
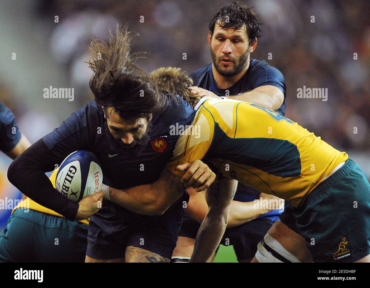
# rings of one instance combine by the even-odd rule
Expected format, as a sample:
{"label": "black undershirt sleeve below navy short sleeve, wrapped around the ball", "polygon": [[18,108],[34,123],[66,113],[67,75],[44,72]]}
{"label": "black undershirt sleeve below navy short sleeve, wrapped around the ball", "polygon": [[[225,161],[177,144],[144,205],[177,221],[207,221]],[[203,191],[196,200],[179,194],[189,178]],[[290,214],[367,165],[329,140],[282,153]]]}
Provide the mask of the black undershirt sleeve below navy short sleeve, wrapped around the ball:
{"label": "black undershirt sleeve below navy short sleeve, wrapped around the ball", "polygon": [[74,221],[78,203],[69,201],[59,193],[45,175],[45,172],[53,171],[55,164],[60,164],[64,158],[55,156],[40,139],[10,164],[8,179],[33,201]]}

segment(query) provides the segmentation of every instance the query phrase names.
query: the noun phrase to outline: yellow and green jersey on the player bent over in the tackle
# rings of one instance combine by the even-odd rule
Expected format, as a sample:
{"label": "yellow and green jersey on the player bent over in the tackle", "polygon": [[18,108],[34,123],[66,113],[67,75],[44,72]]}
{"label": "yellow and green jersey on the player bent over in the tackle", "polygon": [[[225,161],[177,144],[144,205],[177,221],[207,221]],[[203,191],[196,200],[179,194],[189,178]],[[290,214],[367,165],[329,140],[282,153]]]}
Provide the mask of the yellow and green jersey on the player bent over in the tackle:
{"label": "yellow and green jersey on the player bent over in the tackle", "polygon": [[183,176],[176,166],[196,159],[297,207],[348,155],[266,107],[210,98],[179,137],[166,167]]}

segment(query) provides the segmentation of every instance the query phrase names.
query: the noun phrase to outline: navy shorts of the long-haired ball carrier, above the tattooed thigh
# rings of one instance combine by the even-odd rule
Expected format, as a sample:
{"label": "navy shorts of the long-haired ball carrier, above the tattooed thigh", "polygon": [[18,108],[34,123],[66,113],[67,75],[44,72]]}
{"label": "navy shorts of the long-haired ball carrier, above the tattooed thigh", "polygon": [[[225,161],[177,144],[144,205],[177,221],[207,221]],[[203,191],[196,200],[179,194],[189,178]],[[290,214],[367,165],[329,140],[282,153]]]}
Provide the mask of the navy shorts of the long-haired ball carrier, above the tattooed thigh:
{"label": "navy shorts of the long-haired ball carrier, above the tattooed thigh", "polygon": [[188,200],[186,192],[160,216],[138,215],[127,209],[118,209],[115,215],[117,207],[106,205],[90,218],[86,254],[96,259],[123,258],[125,247],[134,246],[171,258],[184,214],[183,202]]}

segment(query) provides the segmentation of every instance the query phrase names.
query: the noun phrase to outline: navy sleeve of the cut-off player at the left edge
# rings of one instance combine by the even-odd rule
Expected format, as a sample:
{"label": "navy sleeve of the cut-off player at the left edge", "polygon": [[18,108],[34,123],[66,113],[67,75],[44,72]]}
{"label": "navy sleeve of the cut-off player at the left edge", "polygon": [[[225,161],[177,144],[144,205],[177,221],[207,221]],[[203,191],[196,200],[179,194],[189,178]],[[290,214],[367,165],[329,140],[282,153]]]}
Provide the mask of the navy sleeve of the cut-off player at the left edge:
{"label": "navy sleeve of the cut-off player at the left edge", "polygon": [[15,117],[4,103],[0,102],[0,150],[9,152],[17,146],[21,133],[15,123]]}

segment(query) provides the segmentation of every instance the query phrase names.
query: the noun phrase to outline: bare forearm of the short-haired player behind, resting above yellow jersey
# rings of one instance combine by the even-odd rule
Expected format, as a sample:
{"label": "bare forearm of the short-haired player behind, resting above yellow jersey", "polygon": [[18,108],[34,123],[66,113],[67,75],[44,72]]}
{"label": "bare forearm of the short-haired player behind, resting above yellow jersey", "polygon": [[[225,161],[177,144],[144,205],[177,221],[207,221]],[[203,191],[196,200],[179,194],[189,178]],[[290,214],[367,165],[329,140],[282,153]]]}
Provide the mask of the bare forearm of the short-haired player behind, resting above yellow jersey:
{"label": "bare forearm of the short-haired player behind, resting above yellow jersey", "polygon": [[265,85],[240,95],[230,96],[229,98],[255,103],[275,111],[282,105],[284,94],[282,90],[276,86]]}

